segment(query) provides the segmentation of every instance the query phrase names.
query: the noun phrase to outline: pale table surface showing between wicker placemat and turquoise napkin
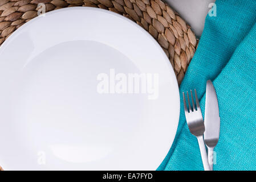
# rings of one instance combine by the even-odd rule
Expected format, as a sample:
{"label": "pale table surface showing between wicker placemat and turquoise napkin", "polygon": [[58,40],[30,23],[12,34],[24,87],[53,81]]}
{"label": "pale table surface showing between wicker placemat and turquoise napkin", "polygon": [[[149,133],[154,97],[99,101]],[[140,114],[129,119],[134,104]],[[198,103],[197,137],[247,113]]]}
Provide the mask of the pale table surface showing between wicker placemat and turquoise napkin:
{"label": "pale table surface showing between wicker placemat and turquoise napkin", "polygon": [[215,0],[164,0],[192,27],[197,37],[204,29],[205,17],[210,10],[209,3]]}

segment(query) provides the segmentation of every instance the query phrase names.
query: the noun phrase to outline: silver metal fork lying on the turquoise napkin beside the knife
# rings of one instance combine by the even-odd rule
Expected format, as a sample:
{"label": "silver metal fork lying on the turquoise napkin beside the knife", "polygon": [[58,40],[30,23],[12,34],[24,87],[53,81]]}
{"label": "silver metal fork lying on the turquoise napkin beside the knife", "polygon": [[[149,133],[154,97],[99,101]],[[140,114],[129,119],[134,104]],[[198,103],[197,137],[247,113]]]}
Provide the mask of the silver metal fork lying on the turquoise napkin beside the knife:
{"label": "silver metal fork lying on the turquoise napkin beside the knife", "polygon": [[208,155],[205,150],[205,143],[204,143],[204,138],[203,138],[203,135],[205,132],[204,119],[202,118],[202,112],[201,112],[199,101],[197,98],[196,89],[194,89],[194,96],[196,98],[196,106],[197,107],[195,107],[195,105],[194,105],[192,90],[190,90],[190,93],[191,93],[191,100],[192,100],[193,108],[190,105],[189,92],[187,91],[186,94],[188,97],[188,106],[189,106],[189,110],[188,110],[188,107],[186,106],[185,93],[183,92],[183,102],[184,102],[186,122],[188,123],[190,133],[197,137],[204,169],[205,169],[205,171],[210,171]]}

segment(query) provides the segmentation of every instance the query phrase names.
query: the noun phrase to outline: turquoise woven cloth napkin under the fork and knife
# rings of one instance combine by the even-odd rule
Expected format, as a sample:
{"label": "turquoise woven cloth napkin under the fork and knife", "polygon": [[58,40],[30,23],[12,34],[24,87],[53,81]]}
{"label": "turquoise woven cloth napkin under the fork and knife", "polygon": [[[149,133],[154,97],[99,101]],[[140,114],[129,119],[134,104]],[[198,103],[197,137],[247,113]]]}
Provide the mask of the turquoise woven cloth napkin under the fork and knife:
{"label": "turquoise woven cloth napkin under the fork and knife", "polygon": [[256,1],[217,0],[180,86],[176,138],[158,170],[203,170],[197,139],[186,124],[182,92],[197,89],[204,115],[206,81],[220,107],[214,170],[256,170]]}

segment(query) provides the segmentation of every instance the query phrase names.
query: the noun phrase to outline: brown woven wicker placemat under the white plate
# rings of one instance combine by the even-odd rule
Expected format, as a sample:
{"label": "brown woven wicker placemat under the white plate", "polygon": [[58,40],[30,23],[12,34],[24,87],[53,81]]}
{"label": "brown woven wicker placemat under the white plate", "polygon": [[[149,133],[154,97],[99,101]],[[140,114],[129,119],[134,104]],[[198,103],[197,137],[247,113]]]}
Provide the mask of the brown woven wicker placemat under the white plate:
{"label": "brown woven wicker placemat under the white plate", "polygon": [[147,30],[161,45],[176,73],[178,83],[194,52],[197,40],[190,26],[160,0],[0,0],[0,45],[22,24],[46,12],[72,6],[99,7],[119,13]]}

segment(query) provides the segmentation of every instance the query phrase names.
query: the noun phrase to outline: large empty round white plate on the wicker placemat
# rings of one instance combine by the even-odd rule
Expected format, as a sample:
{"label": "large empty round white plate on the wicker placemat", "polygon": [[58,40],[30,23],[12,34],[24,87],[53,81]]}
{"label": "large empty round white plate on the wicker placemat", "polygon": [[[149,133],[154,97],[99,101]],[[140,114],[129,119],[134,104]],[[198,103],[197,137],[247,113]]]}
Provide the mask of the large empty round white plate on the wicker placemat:
{"label": "large empty round white plate on the wicker placemat", "polygon": [[[147,73],[149,87],[152,76],[153,90],[136,93],[129,73]],[[102,76],[114,93],[100,93]],[[168,58],[148,32],[110,11],[72,7],[26,23],[0,48],[0,85],[7,170],[155,170],[176,134],[180,100]]]}

